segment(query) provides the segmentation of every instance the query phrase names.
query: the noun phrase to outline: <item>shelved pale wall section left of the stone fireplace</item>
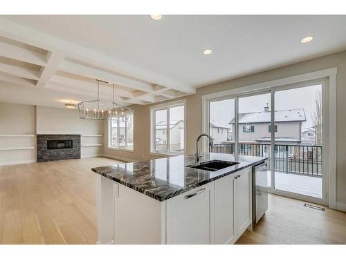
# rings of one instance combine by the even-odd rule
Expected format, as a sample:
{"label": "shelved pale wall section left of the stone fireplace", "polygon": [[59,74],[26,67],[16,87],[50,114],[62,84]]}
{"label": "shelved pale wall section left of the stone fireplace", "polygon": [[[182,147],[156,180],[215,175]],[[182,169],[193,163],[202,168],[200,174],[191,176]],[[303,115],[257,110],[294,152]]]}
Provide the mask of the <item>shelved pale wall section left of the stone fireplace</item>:
{"label": "shelved pale wall section left of the stone fireplace", "polygon": [[0,165],[36,160],[35,126],[35,106],[0,103]]}

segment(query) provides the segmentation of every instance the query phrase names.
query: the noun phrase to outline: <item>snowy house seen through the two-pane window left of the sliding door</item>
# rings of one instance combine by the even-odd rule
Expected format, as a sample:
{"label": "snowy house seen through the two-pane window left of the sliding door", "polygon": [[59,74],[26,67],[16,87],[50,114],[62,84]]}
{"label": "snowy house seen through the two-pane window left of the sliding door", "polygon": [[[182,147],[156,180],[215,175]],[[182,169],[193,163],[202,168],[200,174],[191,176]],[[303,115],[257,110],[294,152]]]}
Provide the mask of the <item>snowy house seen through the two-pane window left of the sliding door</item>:
{"label": "snowy house seen through the two-pane window left of the sliding door", "polygon": [[[174,149],[184,149],[184,121],[172,120],[170,121],[170,145]],[[165,145],[167,144],[167,121],[158,122],[155,125],[155,143]]]}

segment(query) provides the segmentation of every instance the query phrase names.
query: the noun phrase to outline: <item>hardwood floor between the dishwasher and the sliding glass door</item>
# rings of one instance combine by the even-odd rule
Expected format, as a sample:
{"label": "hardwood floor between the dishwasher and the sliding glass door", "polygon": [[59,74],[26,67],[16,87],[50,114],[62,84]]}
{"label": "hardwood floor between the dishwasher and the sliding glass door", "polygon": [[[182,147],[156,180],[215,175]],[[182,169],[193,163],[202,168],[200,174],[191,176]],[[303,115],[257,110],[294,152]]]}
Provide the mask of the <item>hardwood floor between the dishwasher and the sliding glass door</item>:
{"label": "hardwood floor between the dishwasher and the sliding glass door", "polygon": [[237,244],[346,244],[345,212],[319,211],[304,203],[312,204],[269,194],[266,215]]}

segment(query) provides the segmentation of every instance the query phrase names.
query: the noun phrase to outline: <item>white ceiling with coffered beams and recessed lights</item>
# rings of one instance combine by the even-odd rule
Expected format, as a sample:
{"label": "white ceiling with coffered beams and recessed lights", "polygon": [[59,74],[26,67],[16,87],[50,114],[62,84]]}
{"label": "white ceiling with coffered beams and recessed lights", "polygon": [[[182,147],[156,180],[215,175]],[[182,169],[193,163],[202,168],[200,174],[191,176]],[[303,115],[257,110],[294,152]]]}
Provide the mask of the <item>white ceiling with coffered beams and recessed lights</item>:
{"label": "white ceiling with coffered beams and recessed lights", "polygon": [[[33,85],[45,90],[69,93],[72,89],[78,94],[90,88],[90,95],[94,95],[92,79],[102,76],[120,84],[123,92],[117,92],[118,98],[127,104],[188,95],[217,81],[346,49],[346,16],[164,15],[160,21],[147,15],[1,18],[0,36],[5,38],[0,43],[15,39],[9,44],[28,44],[20,47],[53,59],[48,65],[36,62],[42,68],[32,73],[35,66],[13,64],[15,55],[3,60],[0,52],[0,65],[21,67],[18,71],[0,66],[0,71],[35,80]],[[313,41],[301,44],[300,39],[309,35]],[[212,55],[202,54],[206,48],[213,50]],[[8,79],[0,74],[1,78]],[[44,96],[32,102],[43,102]]]}

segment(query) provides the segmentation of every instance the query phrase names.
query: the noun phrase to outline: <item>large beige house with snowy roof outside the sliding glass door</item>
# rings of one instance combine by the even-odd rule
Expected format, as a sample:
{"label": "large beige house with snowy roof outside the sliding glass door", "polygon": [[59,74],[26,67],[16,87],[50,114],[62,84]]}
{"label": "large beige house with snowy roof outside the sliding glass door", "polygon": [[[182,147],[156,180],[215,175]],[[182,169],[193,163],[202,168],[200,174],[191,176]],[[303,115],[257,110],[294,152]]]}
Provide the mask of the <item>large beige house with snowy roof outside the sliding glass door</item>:
{"label": "large beige house with snowy roof outside the sliding glass door", "polygon": [[[275,141],[300,143],[302,122],[306,122],[303,108],[275,111]],[[239,142],[270,142],[271,111],[268,106],[264,111],[255,113],[239,113]],[[230,121],[235,127],[234,118]]]}

